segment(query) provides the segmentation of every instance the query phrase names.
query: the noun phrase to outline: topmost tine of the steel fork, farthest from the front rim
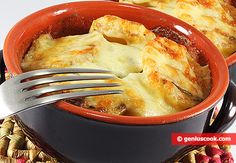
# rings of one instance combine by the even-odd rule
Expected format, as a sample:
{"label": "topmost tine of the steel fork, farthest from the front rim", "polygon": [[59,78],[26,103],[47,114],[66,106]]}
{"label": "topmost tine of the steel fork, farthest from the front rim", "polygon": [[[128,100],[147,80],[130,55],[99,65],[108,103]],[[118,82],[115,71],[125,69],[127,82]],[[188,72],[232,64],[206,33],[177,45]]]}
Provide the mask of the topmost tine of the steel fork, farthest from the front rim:
{"label": "topmost tine of the steel fork, farthest from the front rim", "polygon": [[54,69],[41,69],[29,71],[23,74],[18,75],[20,81],[37,77],[42,75],[55,75],[55,74],[65,74],[65,73],[109,73],[108,70],[101,69],[88,69],[88,68],[54,68]]}

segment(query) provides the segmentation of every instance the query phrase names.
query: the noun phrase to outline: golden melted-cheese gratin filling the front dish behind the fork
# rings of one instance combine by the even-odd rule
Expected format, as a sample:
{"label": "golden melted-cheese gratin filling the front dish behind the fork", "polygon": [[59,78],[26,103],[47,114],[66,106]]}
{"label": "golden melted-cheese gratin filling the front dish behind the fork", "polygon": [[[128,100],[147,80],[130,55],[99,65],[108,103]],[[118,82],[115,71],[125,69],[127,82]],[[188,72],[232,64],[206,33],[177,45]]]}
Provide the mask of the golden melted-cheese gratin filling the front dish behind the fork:
{"label": "golden melted-cheese gratin filling the front dish behind the fork", "polygon": [[172,114],[198,104],[209,94],[203,89],[210,88],[208,67],[200,66],[184,46],[110,15],[95,20],[88,34],[58,39],[41,35],[22,61],[24,71],[56,67],[111,70],[115,78],[104,82],[120,83],[117,89],[124,93],[86,97],[80,104],[110,114]]}

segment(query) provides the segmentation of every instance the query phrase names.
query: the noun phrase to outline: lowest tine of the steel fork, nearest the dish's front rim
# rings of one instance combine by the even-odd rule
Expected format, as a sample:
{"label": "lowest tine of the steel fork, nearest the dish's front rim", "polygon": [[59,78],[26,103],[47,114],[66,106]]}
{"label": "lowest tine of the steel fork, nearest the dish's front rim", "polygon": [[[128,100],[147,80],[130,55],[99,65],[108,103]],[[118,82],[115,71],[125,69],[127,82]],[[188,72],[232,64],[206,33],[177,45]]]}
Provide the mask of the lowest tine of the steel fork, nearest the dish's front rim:
{"label": "lowest tine of the steel fork, nearest the dish's front rim", "polygon": [[97,90],[97,91],[82,91],[82,92],[71,92],[63,93],[57,95],[51,95],[47,97],[37,98],[31,101],[26,101],[31,107],[37,107],[45,104],[54,103],[58,100],[70,99],[70,98],[79,98],[87,96],[99,96],[99,95],[110,95],[110,94],[121,94],[121,90]]}

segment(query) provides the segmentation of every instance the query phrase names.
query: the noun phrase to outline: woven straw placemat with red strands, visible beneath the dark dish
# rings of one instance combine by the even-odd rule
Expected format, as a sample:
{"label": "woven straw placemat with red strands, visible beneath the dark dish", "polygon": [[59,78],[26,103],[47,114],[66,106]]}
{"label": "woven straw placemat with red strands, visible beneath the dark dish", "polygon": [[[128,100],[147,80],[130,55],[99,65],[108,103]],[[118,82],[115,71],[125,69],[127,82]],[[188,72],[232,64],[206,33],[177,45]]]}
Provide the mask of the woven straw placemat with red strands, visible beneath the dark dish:
{"label": "woven straw placemat with red strands, visible beneath the dark dish", "polygon": [[[10,117],[0,128],[0,163],[57,163],[33,144]],[[208,145],[180,157],[175,163],[233,163],[229,145]]]}

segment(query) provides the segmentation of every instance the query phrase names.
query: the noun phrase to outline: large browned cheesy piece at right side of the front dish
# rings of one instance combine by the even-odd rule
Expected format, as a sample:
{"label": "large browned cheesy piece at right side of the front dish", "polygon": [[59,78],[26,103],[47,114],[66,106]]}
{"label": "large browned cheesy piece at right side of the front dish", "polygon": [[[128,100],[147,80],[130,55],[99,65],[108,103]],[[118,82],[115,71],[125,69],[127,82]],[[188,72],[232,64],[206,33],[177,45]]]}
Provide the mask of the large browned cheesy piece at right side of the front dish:
{"label": "large browned cheesy piece at right side of the front dish", "polygon": [[142,61],[150,87],[161,90],[163,98],[174,108],[192,107],[209,94],[209,89],[203,90],[202,83],[208,83],[209,87],[211,79],[200,81],[198,74],[201,71],[209,77],[209,69],[193,61],[183,45],[157,37],[145,46]]}

